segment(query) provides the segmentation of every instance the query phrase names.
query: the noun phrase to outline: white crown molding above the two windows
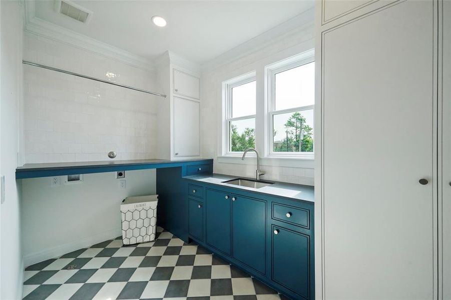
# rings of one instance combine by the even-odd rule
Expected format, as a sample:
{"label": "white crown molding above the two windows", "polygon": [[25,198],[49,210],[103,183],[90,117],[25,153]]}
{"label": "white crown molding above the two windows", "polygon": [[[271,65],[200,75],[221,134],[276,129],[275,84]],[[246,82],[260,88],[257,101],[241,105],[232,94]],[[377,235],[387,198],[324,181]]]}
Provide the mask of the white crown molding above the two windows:
{"label": "white crown molding above the two windows", "polygon": [[[265,31],[250,40],[216,56],[201,65],[202,72],[212,71],[222,65],[236,61],[246,55],[257,52],[290,36],[305,32],[314,26],[315,9],[309,8],[291,19]],[[313,32],[313,31],[312,31]]]}

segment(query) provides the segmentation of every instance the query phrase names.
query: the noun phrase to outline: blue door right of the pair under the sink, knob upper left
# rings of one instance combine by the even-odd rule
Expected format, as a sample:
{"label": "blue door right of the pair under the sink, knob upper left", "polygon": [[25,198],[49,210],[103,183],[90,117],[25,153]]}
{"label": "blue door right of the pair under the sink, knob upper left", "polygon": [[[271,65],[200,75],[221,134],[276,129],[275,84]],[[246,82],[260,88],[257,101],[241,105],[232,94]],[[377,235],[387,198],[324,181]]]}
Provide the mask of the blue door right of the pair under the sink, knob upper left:
{"label": "blue door right of the pair under the sink, knob upper left", "polygon": [[266,201],[232,195],[233,257],[266,273]]}

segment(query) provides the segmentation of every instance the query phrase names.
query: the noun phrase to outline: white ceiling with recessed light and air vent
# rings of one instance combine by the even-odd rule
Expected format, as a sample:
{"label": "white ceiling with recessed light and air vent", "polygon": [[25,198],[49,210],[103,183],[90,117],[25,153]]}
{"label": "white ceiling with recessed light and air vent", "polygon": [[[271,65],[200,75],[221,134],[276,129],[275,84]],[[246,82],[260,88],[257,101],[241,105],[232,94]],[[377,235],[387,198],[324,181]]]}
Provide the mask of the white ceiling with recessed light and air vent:
{"label": "white ceiling with recessed light and air vent", "polygon": [[[35,16],[91,38],[155,59],[166,50],[204,63],[314,6],[314,0],[75,0],[94,12],[80,23],[36,1]],[[157,27],[153,15],[167,20]]]}

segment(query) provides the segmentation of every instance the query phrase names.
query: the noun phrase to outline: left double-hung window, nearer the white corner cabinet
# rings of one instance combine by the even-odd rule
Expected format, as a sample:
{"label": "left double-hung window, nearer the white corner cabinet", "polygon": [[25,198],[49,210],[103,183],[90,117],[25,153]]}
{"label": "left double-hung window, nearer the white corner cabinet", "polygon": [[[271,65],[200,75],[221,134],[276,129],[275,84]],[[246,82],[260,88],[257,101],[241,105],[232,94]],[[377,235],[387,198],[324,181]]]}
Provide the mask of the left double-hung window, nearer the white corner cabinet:
{"label": "left double-hung window, nearer the white corner cabinet", "polygon": [[223,83],[225,104],[225,154],[240,153],[255,147],[256,80],[255,73]]}

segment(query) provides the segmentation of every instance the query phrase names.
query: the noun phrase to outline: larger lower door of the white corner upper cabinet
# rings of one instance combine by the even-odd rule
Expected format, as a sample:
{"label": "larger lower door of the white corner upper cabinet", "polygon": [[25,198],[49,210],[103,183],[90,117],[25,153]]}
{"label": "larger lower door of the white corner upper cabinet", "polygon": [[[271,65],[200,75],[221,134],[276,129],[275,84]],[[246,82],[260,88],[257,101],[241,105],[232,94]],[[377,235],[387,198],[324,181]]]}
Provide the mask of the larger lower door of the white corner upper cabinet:
{"label": "larger lower door of the white corner upper cabinet", "polygon": [[199,156],[198,101],[174,97],[174,157]]}

